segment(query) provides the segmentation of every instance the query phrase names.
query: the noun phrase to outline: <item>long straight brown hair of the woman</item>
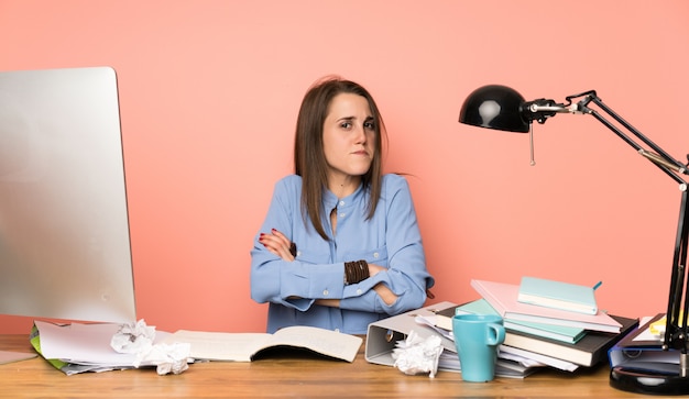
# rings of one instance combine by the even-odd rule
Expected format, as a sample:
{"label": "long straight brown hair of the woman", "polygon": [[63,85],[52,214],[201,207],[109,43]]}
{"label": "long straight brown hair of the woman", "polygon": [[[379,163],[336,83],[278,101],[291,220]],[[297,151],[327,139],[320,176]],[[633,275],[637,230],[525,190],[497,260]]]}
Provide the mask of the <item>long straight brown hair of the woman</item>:
{"label": "long straight brown hair of the woman", "polygon": [[373,115],[375,132],[375,152],[369,170],[361,177],[363,189],[369,192],[368,219],[375,213],[381,196],[383,175],[383,135],[387,140],[383,118],[373,97],[361,85],[337,76],[328,76],[317,80],[304,96],[297,118],[294,141],[294,171],[302,176],[302,210],[304,223],[306,218],[324,239],[328,240],[322,224],[324,190],[328,187],[328,164],[322,147],[322,126],[328,115],[332,99],[340,93],[353,93],[367,99]]}

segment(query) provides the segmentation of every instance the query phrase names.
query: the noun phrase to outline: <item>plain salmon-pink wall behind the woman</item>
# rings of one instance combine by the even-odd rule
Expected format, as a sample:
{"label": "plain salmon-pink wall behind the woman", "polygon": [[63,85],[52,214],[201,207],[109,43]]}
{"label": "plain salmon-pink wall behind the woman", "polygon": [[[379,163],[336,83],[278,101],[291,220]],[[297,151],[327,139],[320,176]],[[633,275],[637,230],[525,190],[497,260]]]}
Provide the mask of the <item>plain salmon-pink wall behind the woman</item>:
{"label": "plain salmon-pink wall behind the woman", "polygon": [[139,317],[161,330],[263,331],[252,237],[292,171],[300,98],[333,73],[373,92],[387,169],[414,175],[436,300],[534,275],[603,280],[603,309],[644,315],[665,310],[676,184],[592,118],[536,125],[535,167],[526,135],[457,119],[485,84],[595,89],[683,159],[687,21],[682,0],[0,0],[0,69],[117,69]]}

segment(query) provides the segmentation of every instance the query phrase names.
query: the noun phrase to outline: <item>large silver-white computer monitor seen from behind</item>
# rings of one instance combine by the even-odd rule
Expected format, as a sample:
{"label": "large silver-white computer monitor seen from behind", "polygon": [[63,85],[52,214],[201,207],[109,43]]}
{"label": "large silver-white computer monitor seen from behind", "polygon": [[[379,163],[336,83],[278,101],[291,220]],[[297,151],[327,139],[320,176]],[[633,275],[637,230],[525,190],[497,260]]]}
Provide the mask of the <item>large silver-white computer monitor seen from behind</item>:
{"label": "large silver-white computer monitor seen from behind", "polygon": [[0,71],[0,314],[136,320],[110,67]]}

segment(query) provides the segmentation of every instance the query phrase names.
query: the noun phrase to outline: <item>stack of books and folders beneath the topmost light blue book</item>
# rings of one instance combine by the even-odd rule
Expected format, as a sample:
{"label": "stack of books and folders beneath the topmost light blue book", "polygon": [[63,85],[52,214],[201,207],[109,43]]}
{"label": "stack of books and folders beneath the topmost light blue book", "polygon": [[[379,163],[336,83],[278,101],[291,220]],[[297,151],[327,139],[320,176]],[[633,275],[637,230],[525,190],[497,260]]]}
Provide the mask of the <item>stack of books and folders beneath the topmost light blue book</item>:
{"label": "stack of books and folders beneath the topmost light blue book", "polygon": [[[438,326],[451,329],[455,314],[499,314],[506,331],[501,353],[532,358],[564,370],[591,367],[605,361],[608,350],[638,325],[637,319],[598,310],[594,300],[591,307],[590,299],[583,300],[589,306],[572,310],[557,302],[546,304],[534,297],[521,297],[521,291],[527,291],[521,290],[526,287],[524,284],[472,280],[471,286],[482,298],[440,312]],[[588,288],[592,295],[593,288]]]}

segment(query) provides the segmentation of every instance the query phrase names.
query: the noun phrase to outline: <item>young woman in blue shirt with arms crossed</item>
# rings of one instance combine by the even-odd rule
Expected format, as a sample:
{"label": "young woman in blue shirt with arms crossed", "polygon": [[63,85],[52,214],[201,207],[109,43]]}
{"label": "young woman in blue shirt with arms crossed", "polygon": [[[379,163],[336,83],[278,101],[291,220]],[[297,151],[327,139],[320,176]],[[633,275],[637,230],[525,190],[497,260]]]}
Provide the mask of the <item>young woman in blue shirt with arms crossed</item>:
{"label": "young woman in blue shirt with arms crossed", "polygon": [[299,109],[295,174],[277,181],[251,251],[251,297],[267,332],[313,325],[365,334],[420,308],[434,285],[407,181],[382,174],[383,120],[371,95],[337,77]]}

